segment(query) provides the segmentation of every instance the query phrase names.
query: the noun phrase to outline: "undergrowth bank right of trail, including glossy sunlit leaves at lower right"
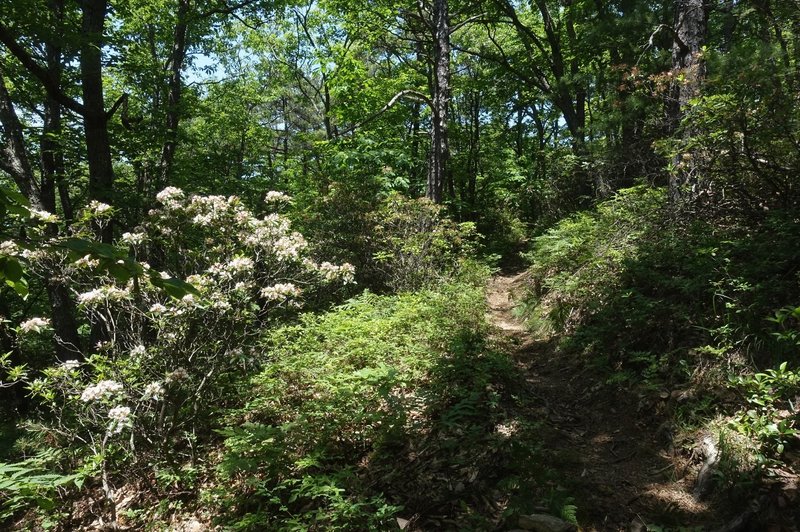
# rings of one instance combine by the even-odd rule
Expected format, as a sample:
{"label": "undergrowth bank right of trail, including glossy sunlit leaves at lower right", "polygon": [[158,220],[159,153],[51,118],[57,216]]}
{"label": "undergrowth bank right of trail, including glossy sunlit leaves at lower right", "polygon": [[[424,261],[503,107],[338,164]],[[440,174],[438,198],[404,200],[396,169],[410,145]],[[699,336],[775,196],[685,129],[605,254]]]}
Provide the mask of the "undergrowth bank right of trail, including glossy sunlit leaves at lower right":
{"label": "undergrowth bank right of trail, including glossy sunlit leaves at lower right", "polygon": [[606,384],[688,392],[673,421],[724,426],[751,448],[739,465],[763,472],[798,446],[800,217],[750,216],[702,219],[662,189],[620,191],[534,240],[522,309]]}

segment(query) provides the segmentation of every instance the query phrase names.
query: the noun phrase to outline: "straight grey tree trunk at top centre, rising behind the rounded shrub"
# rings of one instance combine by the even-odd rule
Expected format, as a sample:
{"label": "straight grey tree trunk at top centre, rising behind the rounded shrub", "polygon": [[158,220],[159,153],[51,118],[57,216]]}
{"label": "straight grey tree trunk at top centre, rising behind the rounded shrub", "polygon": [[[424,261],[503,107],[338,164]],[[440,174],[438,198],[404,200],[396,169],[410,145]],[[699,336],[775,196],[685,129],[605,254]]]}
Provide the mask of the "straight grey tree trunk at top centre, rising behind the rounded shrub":
{"label": "straight grey tree trunk at top centre, rising behind the rounded shrub", "polygon": [[448,0],[433,1],[433,106],[431,109],[431,153],[426,196],[441,203],[448,182],[450,146],[450,15]]}

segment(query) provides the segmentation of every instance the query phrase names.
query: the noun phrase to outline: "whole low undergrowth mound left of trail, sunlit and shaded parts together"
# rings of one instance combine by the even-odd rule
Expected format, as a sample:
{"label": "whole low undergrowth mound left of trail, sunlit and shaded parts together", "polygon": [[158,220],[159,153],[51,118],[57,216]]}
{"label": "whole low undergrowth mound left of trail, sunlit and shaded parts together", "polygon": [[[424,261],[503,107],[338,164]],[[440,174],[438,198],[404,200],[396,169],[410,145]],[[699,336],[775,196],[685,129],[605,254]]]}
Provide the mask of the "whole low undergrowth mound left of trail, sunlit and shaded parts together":
{"label": "whole low undergrowth mound left of trail, sunlit and shaded parts together", "polygon": [[485,530],[533,504],[536,426],[512,414],[520,379],[485,310],[475,284],[367,293],[268,335],[205,494],[221,521]]}

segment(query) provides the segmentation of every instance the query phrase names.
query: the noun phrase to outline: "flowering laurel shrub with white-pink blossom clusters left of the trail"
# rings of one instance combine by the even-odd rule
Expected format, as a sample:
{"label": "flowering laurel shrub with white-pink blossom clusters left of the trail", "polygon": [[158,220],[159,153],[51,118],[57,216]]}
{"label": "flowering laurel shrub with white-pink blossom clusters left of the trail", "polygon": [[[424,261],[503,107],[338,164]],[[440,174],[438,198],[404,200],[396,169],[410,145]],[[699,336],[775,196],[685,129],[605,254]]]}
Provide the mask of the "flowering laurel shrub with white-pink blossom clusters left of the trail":
{"label": "flowering laurel shrub with white-pink blossom clusters left of the trail", "polygon": [[[251,347],[259,331],[316,291],[353,282],[351,265],[308,256],[282,215],[257,217],[235,196],[189,196],[174,187],[157,200],[117,243],[115,253],[127,248],[137,260],[135,275],[120,275],[115,266],[129,264],[110,260],[105,248],[72,262],[61,257],[97,342],[29,383],[50,410],[40,429],[103,458],[95,462],[106,487],[111,457],[175,464],[192,455],[213,413],[235,397],[234,384],[259,367]],[[106,207],[90,205],[87,227],[113,216]],[[49,323],[33,318],[19,329],[40,334]]]}

